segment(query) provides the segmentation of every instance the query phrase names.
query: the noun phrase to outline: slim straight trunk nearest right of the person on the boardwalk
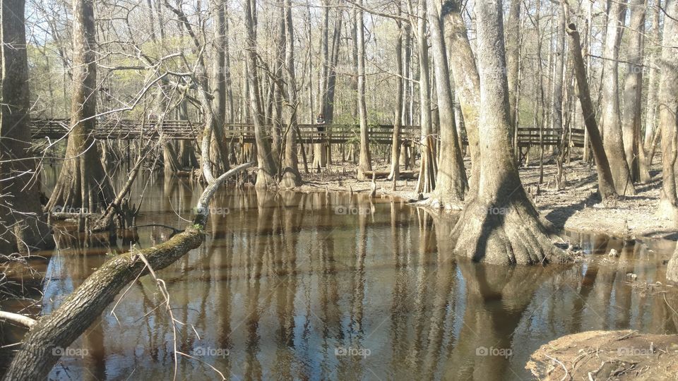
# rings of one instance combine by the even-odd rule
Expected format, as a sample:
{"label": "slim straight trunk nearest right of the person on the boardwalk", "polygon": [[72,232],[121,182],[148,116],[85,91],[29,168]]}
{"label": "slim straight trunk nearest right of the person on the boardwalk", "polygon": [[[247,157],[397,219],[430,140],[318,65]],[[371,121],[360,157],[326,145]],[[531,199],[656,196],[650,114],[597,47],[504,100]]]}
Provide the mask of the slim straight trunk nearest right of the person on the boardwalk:
{"label": "slim straight trunk nearest right of the person on the boardwalk", "polygon": [[[362,7],[362,0],[358,0]],[[369,153],[369,136],[367,135],[367,103],[365,102],[365,21],[362,8],[357,11],[356,29],[358,36],[358,116],[360,119],[360,158],[358,160],[358,179],[365,179],[365,172],[372,170],[372,159]]]}

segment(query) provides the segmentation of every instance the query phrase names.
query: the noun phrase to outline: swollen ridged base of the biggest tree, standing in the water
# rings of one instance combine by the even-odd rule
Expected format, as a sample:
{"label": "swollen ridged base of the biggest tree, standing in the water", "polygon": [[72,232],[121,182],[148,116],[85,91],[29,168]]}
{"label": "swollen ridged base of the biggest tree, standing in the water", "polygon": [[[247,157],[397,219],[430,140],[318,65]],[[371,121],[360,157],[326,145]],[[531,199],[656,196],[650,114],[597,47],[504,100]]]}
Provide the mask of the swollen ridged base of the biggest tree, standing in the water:
{"label": "swollen ridged base of the biggest tree, standing in the water", "polygon": [[477,262],[536,265],[569,258],[549,238],[549,226],[524,194],[514,195],[504,205],[472,200],[452,237],[456,254]]}

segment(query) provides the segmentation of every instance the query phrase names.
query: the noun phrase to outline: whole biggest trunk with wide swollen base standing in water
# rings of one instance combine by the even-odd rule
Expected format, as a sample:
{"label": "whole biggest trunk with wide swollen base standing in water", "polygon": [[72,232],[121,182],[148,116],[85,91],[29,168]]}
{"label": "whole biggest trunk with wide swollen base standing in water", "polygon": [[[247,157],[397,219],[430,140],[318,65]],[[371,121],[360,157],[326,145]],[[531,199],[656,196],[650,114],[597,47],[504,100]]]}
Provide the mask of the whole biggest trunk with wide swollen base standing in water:
{"label": "whole biggest trunk with wide swollen base standing in water", "polygon": [[480,72],[480,183],[452,231],[459,255],[500,265],[533,265],[564,259],[523,189],[511,155],[508,84],[500,0],[479,0],[477,55]]}

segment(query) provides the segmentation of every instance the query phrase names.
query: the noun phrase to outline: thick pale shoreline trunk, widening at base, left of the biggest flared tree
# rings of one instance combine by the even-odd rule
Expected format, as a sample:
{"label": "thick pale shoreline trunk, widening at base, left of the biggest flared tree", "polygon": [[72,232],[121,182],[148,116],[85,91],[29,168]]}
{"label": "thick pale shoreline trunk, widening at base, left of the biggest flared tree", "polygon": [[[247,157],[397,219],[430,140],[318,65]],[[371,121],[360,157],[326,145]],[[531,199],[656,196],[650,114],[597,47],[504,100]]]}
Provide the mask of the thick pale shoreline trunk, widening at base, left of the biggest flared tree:
{"label": "thick pale shoreline trunk, widening at base, left of the biggest flared tree", "polygon": [[454,99],[450,85],[450,69],[447,63],[443,25],[436,2],[427,0],[427,5],[440,121],[440,157],[436,188],[431,196],[432,205],[460,209],[468,189],[468,182],[454,121]]}

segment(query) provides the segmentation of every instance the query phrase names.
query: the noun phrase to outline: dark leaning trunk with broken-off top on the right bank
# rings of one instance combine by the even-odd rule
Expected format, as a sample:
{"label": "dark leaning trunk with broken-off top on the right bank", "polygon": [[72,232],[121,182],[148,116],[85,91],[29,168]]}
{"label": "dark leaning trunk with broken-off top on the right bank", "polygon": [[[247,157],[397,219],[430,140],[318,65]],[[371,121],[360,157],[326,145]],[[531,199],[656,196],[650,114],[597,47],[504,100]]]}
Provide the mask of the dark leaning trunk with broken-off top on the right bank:
{"label": "dark leaning trunk with broken-off top on the right bank", "polygon": [[614,181],[612,172],[609,169],[607,155],[602,145],[602,138],[595,121],[595,111],[591,104],[591,95],[588,89],[588,80],[586,79],[586,68],[584,59],[581,56],[581,42],[579,41],[579,32],[574,24],[569,24],[567,34],[570,36],[570,55],[573,59],[574,75],[578,87],[579,102],[584,117],[586,131],[588,131],[593,156],[595,157],[595,170],[598,176],[598,192],[603,201],[617,198],[617,191],[614,190]]}

